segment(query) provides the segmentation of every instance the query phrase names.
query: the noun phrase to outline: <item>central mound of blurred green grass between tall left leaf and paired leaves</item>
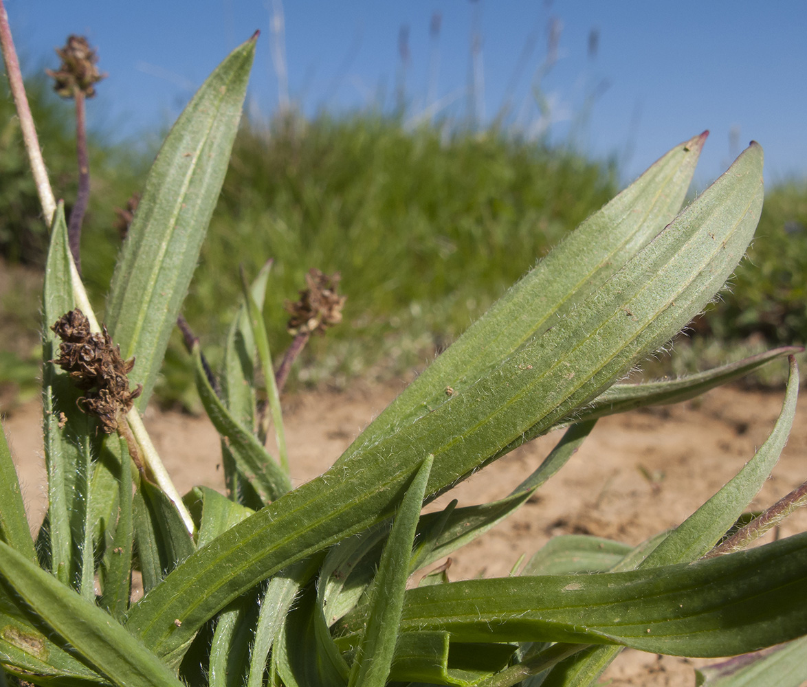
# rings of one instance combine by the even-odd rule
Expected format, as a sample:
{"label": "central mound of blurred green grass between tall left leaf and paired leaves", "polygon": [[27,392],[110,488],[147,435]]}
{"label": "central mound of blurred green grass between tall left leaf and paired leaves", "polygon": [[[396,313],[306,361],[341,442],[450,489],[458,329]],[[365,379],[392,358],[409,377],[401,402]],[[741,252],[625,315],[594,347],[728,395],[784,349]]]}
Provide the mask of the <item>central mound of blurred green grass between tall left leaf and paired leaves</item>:
{"label": "central mound of blurred green grass between tall left leaf and paired leaves", "polygon": [[303,370],[304,380],[349,377],[379,359],[422,361],[616,186],[613,166],[497,131],[404,131],[373,114],[247,126],[186,317],[199,331],[224,331],[232,313],[210,304],[236,300],[232,256],[247,256],[248,274],[271,257],[276,351],[290,340],[282,302],[296,298],[307,269],[340,272],[348,296],[345,323],[312,342],[307,360],[319,371]]}

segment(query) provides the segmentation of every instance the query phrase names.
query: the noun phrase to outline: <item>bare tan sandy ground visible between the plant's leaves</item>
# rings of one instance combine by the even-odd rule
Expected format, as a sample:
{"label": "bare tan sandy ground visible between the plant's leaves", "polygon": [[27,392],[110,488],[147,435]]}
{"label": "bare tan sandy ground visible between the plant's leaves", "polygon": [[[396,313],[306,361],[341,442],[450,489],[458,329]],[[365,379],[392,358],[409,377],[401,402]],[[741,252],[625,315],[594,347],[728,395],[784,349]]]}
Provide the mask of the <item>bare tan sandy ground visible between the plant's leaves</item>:
{"label": "bare tan sandy ground visible between the plant's leaves", "polygon": [[[784,364],[784,363],[783,363]],[[284,400],[295,485],[322,473],[398,387],[354,385],[347,392],[299,393]],[[552,535],[585,533],[638,544],[674,527],[725,484],[771,431],[783,393],[715,389],[704,397],[600,420],[583,448],[512,518],[456,552],[452,580],[504,576]],[[804,405],[804,402],[801,402]],[[180,492],[223,489],[217,435],[207,418],[149,411],[146,426]],[[46,503],[40,409],[22,406],[5,421],[31,523]],[[537,439],[477,473],[451,493],[460,506],[502,498],[540,464],[559,435]],[[807,479],[807,420],[797,414],[788,447],[752,504],[771,505]],[[444,497],[445,499],[445,497]],[[807,512],[781,535],[807,529]],[[627,651],[603,677],[611,685],[694,685],[702,660]],[[610,682],[608,682],[610,681]]]}

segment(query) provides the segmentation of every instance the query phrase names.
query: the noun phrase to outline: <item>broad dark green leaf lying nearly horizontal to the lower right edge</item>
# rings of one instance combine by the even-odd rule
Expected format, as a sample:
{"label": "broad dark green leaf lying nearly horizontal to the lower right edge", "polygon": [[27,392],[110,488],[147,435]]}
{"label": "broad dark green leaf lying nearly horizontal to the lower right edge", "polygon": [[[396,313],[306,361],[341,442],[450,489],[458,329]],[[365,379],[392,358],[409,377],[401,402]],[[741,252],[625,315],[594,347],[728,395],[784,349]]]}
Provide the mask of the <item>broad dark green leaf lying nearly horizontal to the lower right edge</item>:
{"label": "broad dark green leaf lying nearly horizontal to the lower right edge", "polygon": [[[807,533],[694,564],[410,589],[400,629],[446,630],[453,642],[618,643],[730,656],[807,634],[805,582]],[[363,614],[347,620],[365,622]]]}

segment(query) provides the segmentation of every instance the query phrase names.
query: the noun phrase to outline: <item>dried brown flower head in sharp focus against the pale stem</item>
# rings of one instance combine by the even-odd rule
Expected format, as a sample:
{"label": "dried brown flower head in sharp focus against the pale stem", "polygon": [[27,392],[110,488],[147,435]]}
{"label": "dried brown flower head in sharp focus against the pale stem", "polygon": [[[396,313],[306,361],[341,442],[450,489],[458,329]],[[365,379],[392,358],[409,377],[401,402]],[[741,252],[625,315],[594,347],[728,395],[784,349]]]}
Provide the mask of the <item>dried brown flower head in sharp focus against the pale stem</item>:
{"label": "dried brown flower head in sharp focus against the pale stem", "polygon": [[112,343],[107,327],[91,332],[90,321],[78,308],[56,320],[51,329],[61,339],[59,357],[53,362],[87,392],[79,402],[82,410],[100,419],[107,434],[116,431],[119,414],[128,413],[143,390],[142,385],[134,391],[129,389],[127,375],[135,359],[121,358],[120,348]]}

